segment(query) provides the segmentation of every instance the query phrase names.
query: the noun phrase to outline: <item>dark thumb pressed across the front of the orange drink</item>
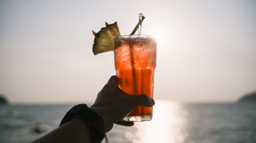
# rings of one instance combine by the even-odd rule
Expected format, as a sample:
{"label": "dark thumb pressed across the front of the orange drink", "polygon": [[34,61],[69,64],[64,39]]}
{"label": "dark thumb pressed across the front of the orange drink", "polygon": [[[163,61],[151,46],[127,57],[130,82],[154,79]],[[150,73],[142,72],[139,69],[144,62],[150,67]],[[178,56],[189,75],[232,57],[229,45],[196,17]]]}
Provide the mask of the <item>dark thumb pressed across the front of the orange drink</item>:
{"label": "dark thumb pressed across the front of the orange drink", "polygon": [[146,94],[130,95],[130,98],[132,99],[131,104],[133,105],[133,108],[137,106],[152,107],[153,105],[155,105],[155,100],[153,98],[150,98]]}

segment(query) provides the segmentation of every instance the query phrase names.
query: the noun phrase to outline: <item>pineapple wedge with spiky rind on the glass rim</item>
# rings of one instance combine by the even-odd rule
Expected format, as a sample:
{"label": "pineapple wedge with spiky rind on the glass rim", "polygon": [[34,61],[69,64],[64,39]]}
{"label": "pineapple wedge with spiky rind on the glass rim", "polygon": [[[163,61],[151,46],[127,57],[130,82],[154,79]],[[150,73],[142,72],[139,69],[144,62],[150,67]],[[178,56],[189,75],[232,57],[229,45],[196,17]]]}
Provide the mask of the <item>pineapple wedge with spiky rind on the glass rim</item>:
{"label": "pineapple wedge with spiky rind on the glass rim", "polygon": [[117,22],[114,24],[106,23],[106,27],[100,29],[98,33],[93,31],[94,44],[93,44],[93,53],[94,55],[109,52],[114,50],[113,39],[115,37],[121,36]]}

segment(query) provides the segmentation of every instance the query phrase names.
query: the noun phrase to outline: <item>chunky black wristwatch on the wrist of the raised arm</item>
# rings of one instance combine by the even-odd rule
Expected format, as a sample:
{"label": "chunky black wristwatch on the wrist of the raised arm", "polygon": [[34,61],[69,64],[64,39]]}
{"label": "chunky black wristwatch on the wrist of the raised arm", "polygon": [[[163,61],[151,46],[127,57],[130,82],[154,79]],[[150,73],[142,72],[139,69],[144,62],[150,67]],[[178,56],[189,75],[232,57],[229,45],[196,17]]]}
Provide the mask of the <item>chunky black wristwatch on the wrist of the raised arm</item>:
{"label": "chunky black wristwatch on the wrist of the raised arm", "polygon": [[[81,116],[82,118],[86,119],[92,125],[94,134],[100,139],[100,141],[103,140],[103,138],[105,137],[106,128],[104,125],[104,120],[101,116],[98,116],[98,114],[94,112],[91,108],[87,107],[86,104],[78,104],[72,107],[67,112],[67,114],[62,119],[60,126],[73,119],[74,116]],[[104,133],[98,125],[103,128],[103,130],[105,131]],[[97,139],[95,139],[95,141],[97,141]]]}

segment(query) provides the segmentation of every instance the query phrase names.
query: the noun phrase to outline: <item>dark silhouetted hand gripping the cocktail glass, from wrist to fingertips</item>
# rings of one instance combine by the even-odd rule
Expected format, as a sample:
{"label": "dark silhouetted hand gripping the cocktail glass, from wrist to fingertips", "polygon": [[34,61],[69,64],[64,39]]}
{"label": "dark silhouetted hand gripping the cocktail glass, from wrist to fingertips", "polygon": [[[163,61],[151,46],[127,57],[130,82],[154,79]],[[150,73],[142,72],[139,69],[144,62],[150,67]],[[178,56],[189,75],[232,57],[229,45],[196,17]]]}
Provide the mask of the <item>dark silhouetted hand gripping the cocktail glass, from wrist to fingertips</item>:
{"label": "dark silhouetted hand gripping the cocktail glass, from wrist to fingertips", "polygon": [[121,121],[121,119],[137,106],[151,107],[154,104],[154,99],[146,94],[134,96],[125,93],[118,87],[117,76],[112,76],[90,108],[103,118],[108,132],[112,129],[113,123],[132,126],[133,122]]}

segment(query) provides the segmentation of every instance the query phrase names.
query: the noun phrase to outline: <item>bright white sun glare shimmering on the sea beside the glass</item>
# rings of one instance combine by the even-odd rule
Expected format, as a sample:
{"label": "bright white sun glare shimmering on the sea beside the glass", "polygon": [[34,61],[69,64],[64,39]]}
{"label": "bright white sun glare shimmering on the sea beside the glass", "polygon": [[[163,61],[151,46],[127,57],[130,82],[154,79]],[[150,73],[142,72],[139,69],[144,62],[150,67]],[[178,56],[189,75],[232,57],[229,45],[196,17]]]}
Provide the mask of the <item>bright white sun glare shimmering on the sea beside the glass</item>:
{"label": "bright white sun glare shimmering on the sea beside the glass", "polygon": [[151,121],[136,122],[125,137],[133,143],[182,143],[186,138],[187,111],[182,104],[164,100],[156,101]]}

